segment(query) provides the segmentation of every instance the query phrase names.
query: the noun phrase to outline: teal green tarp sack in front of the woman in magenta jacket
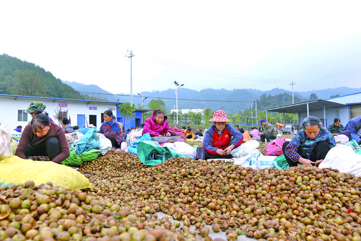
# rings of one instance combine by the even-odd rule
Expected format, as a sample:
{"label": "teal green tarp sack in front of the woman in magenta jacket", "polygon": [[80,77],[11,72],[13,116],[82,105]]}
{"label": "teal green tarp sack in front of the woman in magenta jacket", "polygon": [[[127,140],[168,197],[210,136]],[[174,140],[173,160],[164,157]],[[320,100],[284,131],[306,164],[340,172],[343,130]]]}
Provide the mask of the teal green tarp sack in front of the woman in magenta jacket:
{"label": "teal green tarp sack in front of the woman in magenta jacket", "polygon": [[168,147],[161,147],[158,142],[151,140],[139,141],[137,155],[139,160],[146,165],[155,165],[178,157],[188,158]]}

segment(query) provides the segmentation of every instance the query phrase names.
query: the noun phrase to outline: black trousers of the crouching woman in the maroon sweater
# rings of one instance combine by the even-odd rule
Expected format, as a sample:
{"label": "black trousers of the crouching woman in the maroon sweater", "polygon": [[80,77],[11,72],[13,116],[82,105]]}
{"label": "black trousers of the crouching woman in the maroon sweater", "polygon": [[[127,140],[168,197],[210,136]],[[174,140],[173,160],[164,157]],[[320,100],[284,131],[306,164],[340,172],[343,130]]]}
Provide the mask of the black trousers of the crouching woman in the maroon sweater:
{"label": "black trousers of the crouching woman in the maroon sweater", "polygon": [[60,143],[59,139],[55,136],[47,138],[45,140],[45,147],[44,148],[37,148],[34,149],[28,146],[27,150],[25,151],[25,156],[47,156],[49,160],[53,160],[56,156],[60,154]]}

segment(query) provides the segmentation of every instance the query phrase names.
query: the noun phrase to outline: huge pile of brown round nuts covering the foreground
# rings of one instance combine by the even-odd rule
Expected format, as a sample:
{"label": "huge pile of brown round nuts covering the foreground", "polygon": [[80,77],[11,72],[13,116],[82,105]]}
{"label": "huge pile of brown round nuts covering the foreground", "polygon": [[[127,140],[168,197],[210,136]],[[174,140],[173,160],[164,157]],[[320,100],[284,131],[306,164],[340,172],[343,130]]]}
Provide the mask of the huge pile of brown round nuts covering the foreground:
{"label": "huge pile of brown round nuts covering the foreground", "polygon": [[361,240],[361,179],[337,170],[189,158],[146,166],[109,151],[79,171],[94,188],[0,187],[0,239],[208,241],[211,225],[227,240]]}

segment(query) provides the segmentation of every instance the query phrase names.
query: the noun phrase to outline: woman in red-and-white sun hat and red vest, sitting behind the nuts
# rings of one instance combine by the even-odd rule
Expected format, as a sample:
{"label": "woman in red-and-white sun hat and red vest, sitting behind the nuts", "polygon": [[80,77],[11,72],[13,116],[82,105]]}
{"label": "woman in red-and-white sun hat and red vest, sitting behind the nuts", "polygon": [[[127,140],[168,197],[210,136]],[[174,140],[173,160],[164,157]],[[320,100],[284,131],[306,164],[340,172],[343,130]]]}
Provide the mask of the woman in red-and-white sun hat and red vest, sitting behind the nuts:
{"label": "woman in red-and-white sun hat and red vest, sitting behind the nuts", "polygon": [[204,133],[203,147],[197,148],[196,159],[233,158],[230,152],[242,143],[242,133],[226,124],[230,121],[223,110],[215,111],[209,121],[213,125]]}

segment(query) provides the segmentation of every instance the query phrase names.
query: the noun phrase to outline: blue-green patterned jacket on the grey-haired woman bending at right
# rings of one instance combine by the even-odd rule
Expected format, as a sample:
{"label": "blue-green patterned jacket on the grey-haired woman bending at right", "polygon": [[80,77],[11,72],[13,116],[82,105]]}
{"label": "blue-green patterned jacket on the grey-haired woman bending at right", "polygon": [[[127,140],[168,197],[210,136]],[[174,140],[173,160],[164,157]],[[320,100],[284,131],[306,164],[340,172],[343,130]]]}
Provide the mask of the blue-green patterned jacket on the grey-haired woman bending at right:
{"label": "blue-green patterned jacket on the grey-haired woman bending at right", "polygon": [[285,155],[294,162],[297,162],[300,157],[310,159],[317,142],[322,140],[327,141],[330,148],[336,147],[333,135],[322,126],[315,139],[308,137],[303,129],[299,130],[286,146]]}

